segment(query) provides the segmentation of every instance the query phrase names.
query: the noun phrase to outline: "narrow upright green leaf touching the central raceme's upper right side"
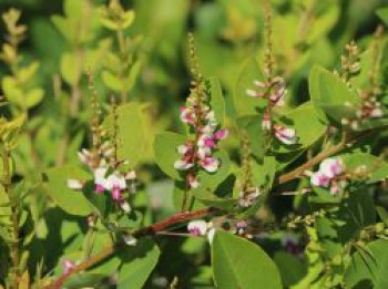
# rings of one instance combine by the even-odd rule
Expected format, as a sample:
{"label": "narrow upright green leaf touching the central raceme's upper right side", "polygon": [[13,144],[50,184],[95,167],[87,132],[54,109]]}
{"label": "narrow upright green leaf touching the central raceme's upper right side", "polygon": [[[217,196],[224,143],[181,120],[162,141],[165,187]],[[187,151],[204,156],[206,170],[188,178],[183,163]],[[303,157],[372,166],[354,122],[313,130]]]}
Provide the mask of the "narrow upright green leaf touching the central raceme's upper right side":
{"label": "narrow upright green leaf touching the central raceme's upper right side", "polygon": [[225,102],[221,84],[216,78],[208,78],[206,80],[206,89],[208,91],[211,107],[214,111],[215,120],[223,126],[225,118]]}

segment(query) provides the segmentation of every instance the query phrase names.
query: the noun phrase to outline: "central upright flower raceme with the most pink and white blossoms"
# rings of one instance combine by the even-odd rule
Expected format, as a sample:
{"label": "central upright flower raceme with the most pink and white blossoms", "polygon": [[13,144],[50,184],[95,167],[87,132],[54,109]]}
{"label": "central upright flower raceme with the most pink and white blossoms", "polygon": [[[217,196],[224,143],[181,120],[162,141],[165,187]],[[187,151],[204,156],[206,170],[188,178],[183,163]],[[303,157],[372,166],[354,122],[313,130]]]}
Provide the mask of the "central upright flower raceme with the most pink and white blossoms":
{"label": "central upright flower raceme with the most pink and white blossoms", "polygon": [[197,169],[215,173],[221,162],[213,156],[217,149],[217,143],[227,136],[227,130],[219,128],[215,120],[214,111],[207,105],[205,92],[192,93],[186,105],[181,107],[181,121],[190,125],[194,132],[194,140],[187,140],[176,151],[180,159],[174,163],[175,169],[188,171],[186,183],[195,188],[200,185]]}

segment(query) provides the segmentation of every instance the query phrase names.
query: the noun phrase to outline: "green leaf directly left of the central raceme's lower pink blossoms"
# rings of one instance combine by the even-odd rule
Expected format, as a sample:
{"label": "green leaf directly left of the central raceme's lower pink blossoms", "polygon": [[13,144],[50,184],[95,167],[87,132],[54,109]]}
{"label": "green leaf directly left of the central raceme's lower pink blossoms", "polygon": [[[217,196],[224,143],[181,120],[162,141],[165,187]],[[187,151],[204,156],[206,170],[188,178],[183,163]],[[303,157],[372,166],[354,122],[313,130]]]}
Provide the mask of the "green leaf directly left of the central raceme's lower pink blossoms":
{"label": "green leaf directly left of the central raceme's lower pink blossoms", "polygon": [[173,179],[182,180],[180,171],[174,168],[175,161],[180,159],[176,148],[186,142],[186,137],[171,132],[160,133],[155,136],[154,151],[159,167]]}

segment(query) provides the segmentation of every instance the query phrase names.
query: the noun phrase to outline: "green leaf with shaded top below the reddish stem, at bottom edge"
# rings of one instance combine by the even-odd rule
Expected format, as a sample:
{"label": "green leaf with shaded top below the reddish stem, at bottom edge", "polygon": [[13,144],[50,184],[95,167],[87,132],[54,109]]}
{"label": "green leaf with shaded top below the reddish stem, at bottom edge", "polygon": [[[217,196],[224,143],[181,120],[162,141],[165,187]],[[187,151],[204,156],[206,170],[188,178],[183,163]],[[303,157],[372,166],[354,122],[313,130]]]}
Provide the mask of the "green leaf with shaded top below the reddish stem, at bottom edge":
{"label": "green leaf with shaded top below the reddish stem, at bottom edge", "polygon": [[157,264],[160,250],[151,239],[139,240],[120,254],[123,265],[119,270],[119,289],[141,289]]}

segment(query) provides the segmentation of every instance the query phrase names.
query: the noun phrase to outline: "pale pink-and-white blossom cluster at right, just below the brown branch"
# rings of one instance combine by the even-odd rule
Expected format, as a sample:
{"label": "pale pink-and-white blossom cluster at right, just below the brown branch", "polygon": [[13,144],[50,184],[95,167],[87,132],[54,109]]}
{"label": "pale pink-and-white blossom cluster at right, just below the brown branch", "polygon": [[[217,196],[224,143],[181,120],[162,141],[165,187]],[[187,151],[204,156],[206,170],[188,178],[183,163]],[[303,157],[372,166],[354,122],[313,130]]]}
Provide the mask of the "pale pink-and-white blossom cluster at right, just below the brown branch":
{"label": "pale pink-and-white blossom cluster at right, just below the brown branch", "polygon": [[329,187],[333,195],[338,195],[346,186],[346,182],[339,178],[344,171],[340,158],[326,158],[320,163],[318,172],[310,174],[310,183],[313,186]]}

